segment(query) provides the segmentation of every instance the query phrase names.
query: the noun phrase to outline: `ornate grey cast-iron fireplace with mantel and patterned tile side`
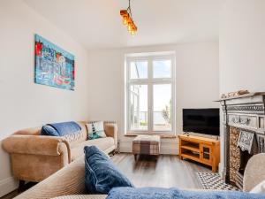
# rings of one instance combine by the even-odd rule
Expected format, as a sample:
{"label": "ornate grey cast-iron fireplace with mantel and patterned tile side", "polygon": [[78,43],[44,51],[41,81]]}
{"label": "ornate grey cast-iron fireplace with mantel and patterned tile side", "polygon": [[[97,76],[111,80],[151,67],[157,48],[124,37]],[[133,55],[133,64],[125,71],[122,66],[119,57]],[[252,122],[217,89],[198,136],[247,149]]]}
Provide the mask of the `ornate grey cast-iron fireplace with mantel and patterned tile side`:
{"label": "ornate grey cast-iron fireplace with mantel and patterned tile side", "polygon": [[265,152],[265,93],[222,99],[224,171],[227,183],[243,188],[247,161]]}

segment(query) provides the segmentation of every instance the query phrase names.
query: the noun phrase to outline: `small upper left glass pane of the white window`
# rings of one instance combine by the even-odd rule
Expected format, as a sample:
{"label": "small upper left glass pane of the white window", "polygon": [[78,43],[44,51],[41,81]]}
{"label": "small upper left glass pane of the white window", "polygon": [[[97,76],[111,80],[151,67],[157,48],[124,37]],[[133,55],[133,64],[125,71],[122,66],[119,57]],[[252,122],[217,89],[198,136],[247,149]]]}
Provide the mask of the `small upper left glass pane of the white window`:
{"label": "small upper left glass pane of the white window", "polygon": [[130,74],[131,79],[148,78],[148,61],[131,62]]}

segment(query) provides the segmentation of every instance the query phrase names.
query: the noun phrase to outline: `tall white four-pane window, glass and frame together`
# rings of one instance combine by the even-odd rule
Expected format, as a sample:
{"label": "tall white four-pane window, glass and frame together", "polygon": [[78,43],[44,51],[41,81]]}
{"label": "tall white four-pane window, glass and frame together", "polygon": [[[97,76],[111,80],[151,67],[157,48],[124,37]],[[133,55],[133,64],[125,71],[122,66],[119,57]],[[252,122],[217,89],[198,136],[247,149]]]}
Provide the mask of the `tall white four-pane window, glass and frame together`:
{"label": "tall white four-pane window, glass and frame together", "polygon": [[174,134],[174,56],[126,57],[128,133]]}

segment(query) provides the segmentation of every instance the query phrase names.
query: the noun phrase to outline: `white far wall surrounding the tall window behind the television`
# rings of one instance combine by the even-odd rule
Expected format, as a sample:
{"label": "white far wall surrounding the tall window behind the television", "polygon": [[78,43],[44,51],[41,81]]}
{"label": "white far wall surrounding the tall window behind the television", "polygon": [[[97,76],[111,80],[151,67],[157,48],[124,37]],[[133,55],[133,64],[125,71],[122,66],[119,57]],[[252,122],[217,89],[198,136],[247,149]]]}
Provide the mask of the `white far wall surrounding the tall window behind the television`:
{"label": "white far wall surrounding the tall window behind the television", "polygon": [[[125,137],[125,54],[155,51],[176,52],[177,133],[182,132],[183,108],[219,107],[218,43],[186,43],[89,53],[89,119],[117,120],[121,150],[131,151]],[[178,153],[177,139],[163,139],[162,153]]]}

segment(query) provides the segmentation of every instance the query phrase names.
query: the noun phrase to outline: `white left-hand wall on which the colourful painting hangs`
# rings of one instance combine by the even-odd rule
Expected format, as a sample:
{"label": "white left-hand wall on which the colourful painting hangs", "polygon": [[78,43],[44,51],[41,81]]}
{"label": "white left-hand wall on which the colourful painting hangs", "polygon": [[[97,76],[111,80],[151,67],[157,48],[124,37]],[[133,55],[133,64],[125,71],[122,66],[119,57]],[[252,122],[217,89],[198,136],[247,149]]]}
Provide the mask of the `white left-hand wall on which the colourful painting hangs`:
{"label": "white left-hand wall on which the colourful painting hangs", "polygon": [[[34,34],[72,52],[74,92],[34,84]],[[20,0],[0,2],[0,141],[48,122],[88,118],[87,51]],[[1,142],[0,142],[1,144]],[[16,188],[8,154],[0,148],[0,196]]]}

